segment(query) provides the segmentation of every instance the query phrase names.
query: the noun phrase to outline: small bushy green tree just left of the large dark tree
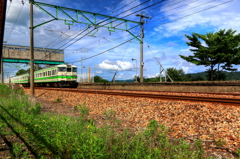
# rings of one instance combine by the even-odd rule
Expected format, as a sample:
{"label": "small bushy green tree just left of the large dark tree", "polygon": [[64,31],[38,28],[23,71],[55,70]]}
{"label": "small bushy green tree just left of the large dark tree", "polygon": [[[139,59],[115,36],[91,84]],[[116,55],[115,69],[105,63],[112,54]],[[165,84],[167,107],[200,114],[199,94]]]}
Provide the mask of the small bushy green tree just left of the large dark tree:
{"label": "small bushy green tree just left of the large dark tree", "polygon": [[176,69],[174,67],[167,68],[167,74],[172,78],[173,81],[184,81],[185,73],[183,69]]}

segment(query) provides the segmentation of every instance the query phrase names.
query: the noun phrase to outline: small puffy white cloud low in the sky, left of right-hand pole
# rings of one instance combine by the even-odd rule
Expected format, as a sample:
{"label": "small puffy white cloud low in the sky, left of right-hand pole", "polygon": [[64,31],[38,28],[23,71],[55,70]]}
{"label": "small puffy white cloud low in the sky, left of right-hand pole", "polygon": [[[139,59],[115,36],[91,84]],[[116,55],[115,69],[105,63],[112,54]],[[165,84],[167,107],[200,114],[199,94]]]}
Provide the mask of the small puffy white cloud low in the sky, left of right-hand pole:
{"label": "small puffy white cloud low in the sky, left of right-hand pole", "polygon": [[134,66],[131,62],[128,61],[109,61],[104,60],[102,63],[97,65],[98,68],[105,70],[119,70],[119,71],[127,71],[134,69]]}

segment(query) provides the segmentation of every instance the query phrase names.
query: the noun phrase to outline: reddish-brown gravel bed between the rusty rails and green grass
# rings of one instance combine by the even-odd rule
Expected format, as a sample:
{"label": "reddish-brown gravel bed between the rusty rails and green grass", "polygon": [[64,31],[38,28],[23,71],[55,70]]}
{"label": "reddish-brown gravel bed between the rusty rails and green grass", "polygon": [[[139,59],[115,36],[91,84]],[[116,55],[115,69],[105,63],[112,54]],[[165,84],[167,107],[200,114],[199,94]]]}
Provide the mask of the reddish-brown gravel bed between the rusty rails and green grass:
{"label": "reddish-brown gravel bed between the rusty rails and green grass", "polygon": [[[25,91],[29,94],[29,89]],[[42,112],[70,116],[79,116],[74,107],[86,103],[90,108],[89,118],[98,126],[105,122],[103,112],[108,110],[116,112],[122,129],[141,131],[150,120],[156,120],[166,126],[172,139],[182,137],[188,142],[201,139],[207,156],[236,158],[240,149],[239,106],[54,90],[35,90],[35,96],[36,102],[42,103]],[[10,143],[14,140],[9,138]],[[0,138],[0,156],[6,151],[8,145]]]}

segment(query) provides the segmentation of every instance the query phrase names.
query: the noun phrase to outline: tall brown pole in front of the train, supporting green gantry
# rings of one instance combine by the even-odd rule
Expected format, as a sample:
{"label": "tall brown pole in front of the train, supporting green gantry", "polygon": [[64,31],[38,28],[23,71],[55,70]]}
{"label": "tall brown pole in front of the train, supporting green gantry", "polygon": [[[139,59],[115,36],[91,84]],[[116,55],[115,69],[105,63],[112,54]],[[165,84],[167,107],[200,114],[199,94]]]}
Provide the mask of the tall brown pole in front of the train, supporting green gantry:
{"label": "tall brown pole in front of the train, supporting green gantry", "polygon": [[[33,2],[34,0],[32,0]],[[29,1],[30,2],[30,1]],[[33,37],[33,3],[30,2],[30,92],[34,97],[34,37]]]}

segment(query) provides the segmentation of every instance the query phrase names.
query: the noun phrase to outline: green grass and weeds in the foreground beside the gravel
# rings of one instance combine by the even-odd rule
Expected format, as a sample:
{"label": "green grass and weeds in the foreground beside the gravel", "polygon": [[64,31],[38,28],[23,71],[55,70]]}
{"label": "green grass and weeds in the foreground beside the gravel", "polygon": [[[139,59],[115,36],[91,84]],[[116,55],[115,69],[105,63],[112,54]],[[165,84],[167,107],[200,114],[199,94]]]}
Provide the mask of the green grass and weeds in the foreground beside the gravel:
{"label": "green grass and weeds in the foreground beside the gravel", "polygon": [[[100,128],[88,119],[85,104],[76,106],[75,111],[80,112],[78,118],[41,113],[41,104],[30,102],[22,90],[0,85],[0,133],[22,140],[13,144],[12,158],[204,158],[200,141],[170,142],[167,129],[154,120],[142,132],[120,132],[113,110],[104,112],[107,122]],[[24,146],[30,152],[23,151]]]}

